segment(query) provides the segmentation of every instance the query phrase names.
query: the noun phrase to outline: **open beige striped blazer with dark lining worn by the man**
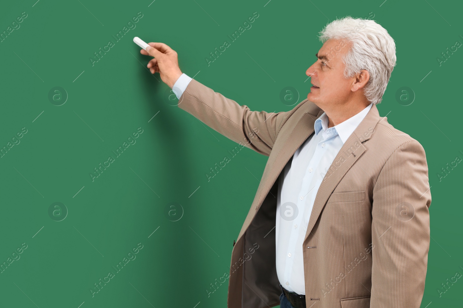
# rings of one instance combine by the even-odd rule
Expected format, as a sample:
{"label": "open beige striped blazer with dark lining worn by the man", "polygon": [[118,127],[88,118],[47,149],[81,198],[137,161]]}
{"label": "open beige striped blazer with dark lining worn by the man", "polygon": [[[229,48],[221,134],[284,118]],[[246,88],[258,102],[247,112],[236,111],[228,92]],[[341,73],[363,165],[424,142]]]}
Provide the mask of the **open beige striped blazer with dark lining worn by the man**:
{"label": "open beige striped blazer with dark lining worn by the man", "polygon": [[[178,106],[268,156],[232,249],[228,308],[280,304],[275,268],[278,176],[323,113],[250,111],[193,79]],[[423,147],[375,105],[346,140],[316,195],[304,240],[307,308],[418,308],[425,288],[431,193]]]}

